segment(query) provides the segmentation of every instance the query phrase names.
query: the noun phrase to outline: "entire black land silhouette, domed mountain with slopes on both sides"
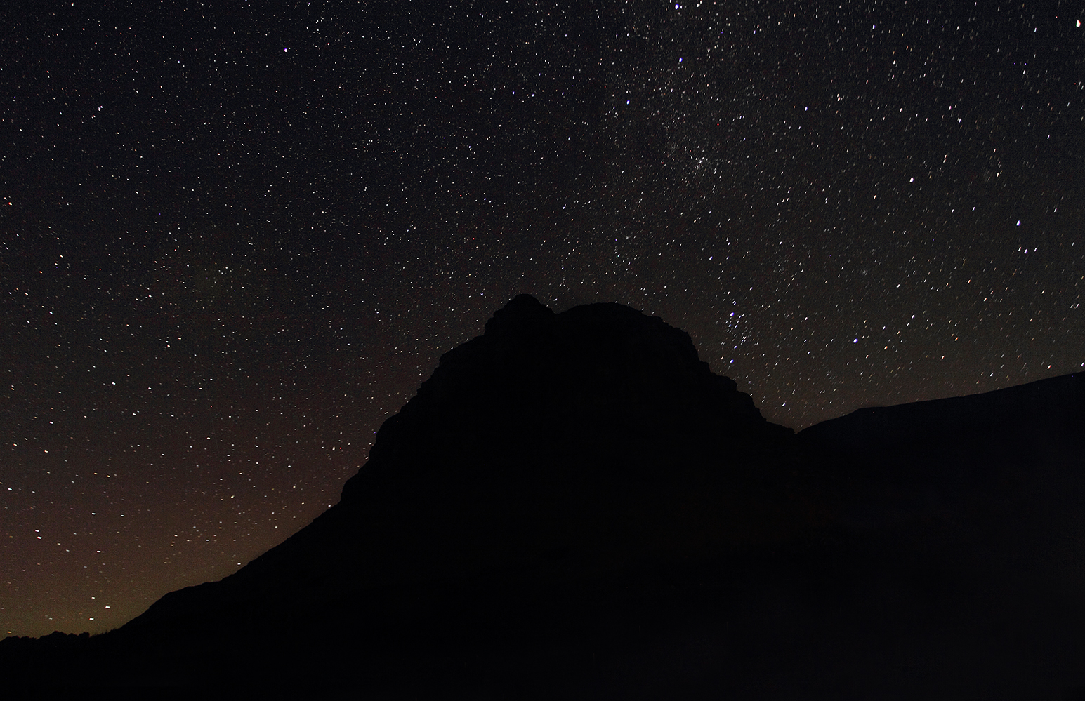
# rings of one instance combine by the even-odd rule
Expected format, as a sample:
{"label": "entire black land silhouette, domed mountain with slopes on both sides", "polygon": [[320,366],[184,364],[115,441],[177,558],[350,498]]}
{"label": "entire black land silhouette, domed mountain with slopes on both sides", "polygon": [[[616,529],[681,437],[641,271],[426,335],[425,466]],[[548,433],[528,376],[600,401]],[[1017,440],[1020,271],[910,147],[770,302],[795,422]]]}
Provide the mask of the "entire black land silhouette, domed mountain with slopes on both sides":
{"label": "entire black land silhouette, domed mountain with slopes on both sides", "polygon": [[341,502],[7,686],[362,698],[1085,697],[1085,377],[794,436],[690,338],[521,296]]}

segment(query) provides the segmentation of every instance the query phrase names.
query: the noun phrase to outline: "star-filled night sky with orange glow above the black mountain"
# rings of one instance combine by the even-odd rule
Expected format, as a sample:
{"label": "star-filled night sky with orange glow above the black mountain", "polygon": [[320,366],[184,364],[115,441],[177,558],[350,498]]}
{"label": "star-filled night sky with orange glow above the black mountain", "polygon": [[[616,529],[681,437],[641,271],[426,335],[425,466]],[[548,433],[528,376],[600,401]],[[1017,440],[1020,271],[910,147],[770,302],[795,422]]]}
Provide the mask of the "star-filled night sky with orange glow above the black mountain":
{"label": "star-filled night sky with orange glow above the black mountain", "polygon": [[0,635],[281,542],[520,293],[796,430],[1085,366],[1081,3],[9,4]]}

